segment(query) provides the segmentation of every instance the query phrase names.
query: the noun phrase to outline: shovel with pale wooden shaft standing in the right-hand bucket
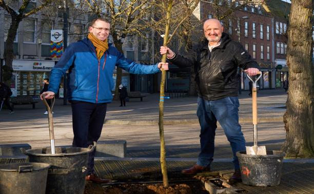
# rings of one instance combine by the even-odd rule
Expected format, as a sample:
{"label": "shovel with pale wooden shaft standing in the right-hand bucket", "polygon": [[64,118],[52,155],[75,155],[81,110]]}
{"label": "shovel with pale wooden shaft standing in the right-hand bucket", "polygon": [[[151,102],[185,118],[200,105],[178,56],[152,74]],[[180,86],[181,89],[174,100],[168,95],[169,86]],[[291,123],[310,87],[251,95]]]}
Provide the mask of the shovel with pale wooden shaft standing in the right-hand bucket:
{"label": "shovel with pale wooden shaft standing in the right-hand bucket", "polygon": [[253,113],[253,126],[254,126],[254,136],[253,136],[253,146],[245,146],[246,147],[246,154],[249,155],[266,155],[266,147],[265,146],[258,146],[257,144],[257,87],[256,83],[261,78],[262,72],[258,72],[260,74],[256,81],[253,81],[251,77],[247,75],[248,79],[252,82],[252,113]]}

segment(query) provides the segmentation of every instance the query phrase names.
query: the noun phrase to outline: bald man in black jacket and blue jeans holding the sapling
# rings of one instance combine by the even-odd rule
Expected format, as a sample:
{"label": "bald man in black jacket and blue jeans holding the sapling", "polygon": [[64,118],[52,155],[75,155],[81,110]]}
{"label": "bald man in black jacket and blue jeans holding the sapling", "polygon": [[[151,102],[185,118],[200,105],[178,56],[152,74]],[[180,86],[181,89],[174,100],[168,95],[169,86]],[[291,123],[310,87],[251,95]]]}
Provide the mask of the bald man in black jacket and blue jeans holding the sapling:
{"label": "bald man in black jacket and blue jeans holding the sapling", "polygon": [[237,151],[245,150],[245,139],[239,124],[238,66],[250,75],[259,72],[256,61],[242,47],[223,32],[218,20],[210,19],[204,23],[206,40],[188,55],[179,55],[167,47],[160,53],[179,67],[194,66],[195,81],[198,84],[197,115],[201,126],[201,152],[197,164],[182,170],[184,174],[195,174],[210,170],[214,154],[214,137],[217,121],[222,126],[233,152],[234,174],[231,184],[241,181]]}

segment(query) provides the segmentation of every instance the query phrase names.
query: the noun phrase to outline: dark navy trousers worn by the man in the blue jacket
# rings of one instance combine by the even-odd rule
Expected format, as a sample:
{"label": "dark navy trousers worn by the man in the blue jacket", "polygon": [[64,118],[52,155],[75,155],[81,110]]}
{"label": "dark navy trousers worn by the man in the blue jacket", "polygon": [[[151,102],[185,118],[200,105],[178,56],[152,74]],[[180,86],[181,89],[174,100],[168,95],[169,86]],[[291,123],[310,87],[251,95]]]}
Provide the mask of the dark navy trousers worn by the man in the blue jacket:
{"label": "dark navy trousers worn by the man in the blue jacket", "polygon": [[[102,133],[107,104],[95,104],[88,102],[73,102],[73,147],[88,147],[97,142]],[[96,149],[88,154],[87,174],[94,172],[94,157]]]}

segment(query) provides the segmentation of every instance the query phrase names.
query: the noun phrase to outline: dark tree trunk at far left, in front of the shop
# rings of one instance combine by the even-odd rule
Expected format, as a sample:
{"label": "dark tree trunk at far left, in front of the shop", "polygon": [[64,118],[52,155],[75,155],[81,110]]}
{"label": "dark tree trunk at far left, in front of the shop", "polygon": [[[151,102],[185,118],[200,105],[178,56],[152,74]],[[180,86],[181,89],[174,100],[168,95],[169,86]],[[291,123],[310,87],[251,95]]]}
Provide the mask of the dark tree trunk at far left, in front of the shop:
{"label": "dark tree trunk at far left, in front of the shop", "polygon": [[6,65],[3,67],[3,80],[8,86],[10,86],[11,84],[11,77],[13,72],[12,62],[14,57],[13,53],[14,38],[16,36],[18,24],[19,22],[21,22],[20,20],[17,20],[16,17],[11,17],[11,19],[12,22],[8,31],[8,38],[5,42],[6,49],[4,51]]}

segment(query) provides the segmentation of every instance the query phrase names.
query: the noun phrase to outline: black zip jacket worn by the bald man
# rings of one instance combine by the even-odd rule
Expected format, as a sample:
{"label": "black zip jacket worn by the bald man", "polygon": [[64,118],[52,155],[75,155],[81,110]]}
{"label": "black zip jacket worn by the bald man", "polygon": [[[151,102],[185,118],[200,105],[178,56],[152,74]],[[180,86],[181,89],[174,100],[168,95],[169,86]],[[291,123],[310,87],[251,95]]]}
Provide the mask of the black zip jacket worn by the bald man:
{"label": "black zip jacket worn by the bald man", "polygon": [[169,60],[178,67],[194,66],[198,94],[205,100],[219,100],[238,96],[238,66],[243,69],[259,68],[240,43],[223,33],[221,44],[209,51],[208,41],[203,41],[188,55],[176,54]]}

